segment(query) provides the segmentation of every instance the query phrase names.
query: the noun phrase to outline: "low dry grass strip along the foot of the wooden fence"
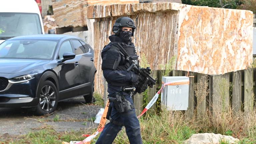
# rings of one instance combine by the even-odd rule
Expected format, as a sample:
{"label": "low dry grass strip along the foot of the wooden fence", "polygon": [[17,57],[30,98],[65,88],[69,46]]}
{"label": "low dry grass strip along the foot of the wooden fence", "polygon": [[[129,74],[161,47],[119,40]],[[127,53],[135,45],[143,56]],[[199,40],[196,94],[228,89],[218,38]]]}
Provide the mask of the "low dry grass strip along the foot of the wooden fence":
{"label": "low dry grass strip along the foot of the wooden fence", "polygon": [[[140,118],[141,135],[145,144],[183,144],[195,133],[220,133],[239,138],[238,144],[256,143],[256,111],[233,114],[219,113],[213,118],[207,112],[202,119],[184,120],[178,111],[162,110],[160,114],[147,114]],[[125,128],[118,134],[115,144],[129,144]]]}

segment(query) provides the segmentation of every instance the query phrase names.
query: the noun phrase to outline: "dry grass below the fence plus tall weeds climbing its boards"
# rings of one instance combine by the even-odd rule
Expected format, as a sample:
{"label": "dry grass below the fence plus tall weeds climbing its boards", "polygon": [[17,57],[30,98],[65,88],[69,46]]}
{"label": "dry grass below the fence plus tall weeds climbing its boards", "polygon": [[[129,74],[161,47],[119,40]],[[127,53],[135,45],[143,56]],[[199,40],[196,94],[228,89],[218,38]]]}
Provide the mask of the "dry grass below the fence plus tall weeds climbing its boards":
{"label": "dry grass below the fence plus tall weeds climbing its boards", "polygon": [[[197,106],[206,100],[209,94],[208,77],[203,77],[195,87]],[[145,144],[183,144],[195,133],[216,133],[231,135],[240,139],[238,144],[256,143],[256,110],[234,112],[227,101],[229,84],[221,79],[217,85],[220,89],[219,109],[208,109],[197,116],[199,107],[195,108],[194,117],[185,119],[182,111],[167,111],[149,113],[140,118],[141,134]],[[215,105],[216,106],[216,105]],[[114,141],[115,144],[128,144],[129,140],[123,129]],[[223,141],[221,142],[223,143]],[[224,143],[223,143],[224,144]],[[227,142],[228,144],[228,142]]]}

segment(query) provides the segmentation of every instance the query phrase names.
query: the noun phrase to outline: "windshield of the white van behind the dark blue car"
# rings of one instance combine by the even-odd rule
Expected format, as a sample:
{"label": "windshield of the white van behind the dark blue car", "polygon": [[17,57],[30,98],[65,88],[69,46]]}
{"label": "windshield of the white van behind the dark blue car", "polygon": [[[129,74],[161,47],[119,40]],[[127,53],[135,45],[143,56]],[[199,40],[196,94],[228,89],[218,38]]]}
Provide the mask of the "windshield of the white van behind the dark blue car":
{"label": "windshield of the white van behind the dark blue car", "polygon": [[0,39],[42,34],[36,13],[0,13]]}

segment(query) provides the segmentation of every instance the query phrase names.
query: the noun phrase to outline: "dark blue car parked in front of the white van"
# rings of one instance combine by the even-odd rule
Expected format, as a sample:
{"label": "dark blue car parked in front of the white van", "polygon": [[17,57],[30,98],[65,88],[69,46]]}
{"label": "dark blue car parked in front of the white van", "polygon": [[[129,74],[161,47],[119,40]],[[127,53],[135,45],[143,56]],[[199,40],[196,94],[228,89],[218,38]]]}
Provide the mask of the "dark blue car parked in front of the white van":
{"label": "dark blue car parked in front of the white van", "polygon": [[52,113],[58,101],[92,101],[94,51],[68,35],[33,35],[0,44],[0,107],[35,107]]}

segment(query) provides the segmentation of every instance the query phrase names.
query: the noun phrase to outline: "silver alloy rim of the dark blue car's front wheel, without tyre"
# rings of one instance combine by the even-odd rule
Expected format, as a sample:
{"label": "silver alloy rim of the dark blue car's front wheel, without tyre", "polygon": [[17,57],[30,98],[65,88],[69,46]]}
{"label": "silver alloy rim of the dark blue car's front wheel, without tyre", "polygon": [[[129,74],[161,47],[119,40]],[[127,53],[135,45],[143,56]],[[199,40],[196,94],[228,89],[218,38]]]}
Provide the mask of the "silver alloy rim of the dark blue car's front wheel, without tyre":
{"label": "silver alloy rim of the dark blue car's front wheel, without tyre", "polygon": [[41,89],[39,103],[42,110],[46,112],[52,110],[56,103],[56,95],[53,87],[51,87],[50,85],[45,85]]}

